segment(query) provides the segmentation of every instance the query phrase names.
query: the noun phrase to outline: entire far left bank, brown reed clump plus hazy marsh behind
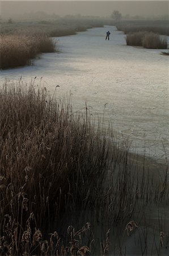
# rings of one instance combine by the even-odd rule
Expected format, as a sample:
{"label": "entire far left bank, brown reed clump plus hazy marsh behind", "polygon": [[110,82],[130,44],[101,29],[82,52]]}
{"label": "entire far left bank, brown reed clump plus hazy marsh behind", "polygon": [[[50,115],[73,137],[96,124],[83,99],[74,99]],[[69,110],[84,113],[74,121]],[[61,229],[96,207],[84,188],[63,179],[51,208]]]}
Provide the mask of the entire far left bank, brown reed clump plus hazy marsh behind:
{"label": "entire far left bank, brown reed clump plus hazy marsh behind", "polygon": [[[91,27],[103,27],[104,20],[56,19],[12,22],[1,21],[0,68],[14,68],[33,63],[43,52],[54,52],[56,40],[51,37],[75,35]],[[43,31],[43,32],[42,32]]]}

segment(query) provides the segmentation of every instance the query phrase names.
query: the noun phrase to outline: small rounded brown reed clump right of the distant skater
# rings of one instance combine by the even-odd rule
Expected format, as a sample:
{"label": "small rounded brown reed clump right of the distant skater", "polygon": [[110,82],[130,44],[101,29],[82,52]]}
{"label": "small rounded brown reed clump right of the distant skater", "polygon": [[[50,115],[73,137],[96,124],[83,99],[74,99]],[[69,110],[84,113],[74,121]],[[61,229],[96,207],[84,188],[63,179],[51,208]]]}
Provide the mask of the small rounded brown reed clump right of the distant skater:
{"label": "small rounded brown reed clump right of the distant skater", "polygon": [[135,32],[126,35],[127,46],[142,46],[150,49],[167,49],[167,38],[153,32]]}

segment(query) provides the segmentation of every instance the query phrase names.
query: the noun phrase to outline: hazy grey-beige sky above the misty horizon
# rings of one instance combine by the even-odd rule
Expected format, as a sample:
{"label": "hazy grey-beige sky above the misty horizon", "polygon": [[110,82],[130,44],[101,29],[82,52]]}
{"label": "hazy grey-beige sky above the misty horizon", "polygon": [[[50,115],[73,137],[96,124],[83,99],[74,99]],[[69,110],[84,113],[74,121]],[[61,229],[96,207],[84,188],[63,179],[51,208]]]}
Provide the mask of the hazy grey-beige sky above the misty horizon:
{"label": "hazy grey-beige sky above the misty horizon", "polygon": [[1,16],[9,18],[36,11],[48,14],[109,16],[113,10],[122,15],[168,15],[168,1],[1,1]]}

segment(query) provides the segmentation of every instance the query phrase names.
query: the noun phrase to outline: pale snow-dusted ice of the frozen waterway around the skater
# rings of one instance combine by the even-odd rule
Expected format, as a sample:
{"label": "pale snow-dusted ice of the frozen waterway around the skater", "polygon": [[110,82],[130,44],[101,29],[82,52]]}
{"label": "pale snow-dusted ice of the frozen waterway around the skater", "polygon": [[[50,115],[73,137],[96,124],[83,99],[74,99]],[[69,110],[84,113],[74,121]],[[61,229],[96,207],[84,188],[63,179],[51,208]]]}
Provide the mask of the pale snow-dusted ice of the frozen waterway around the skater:
{"label": "pale snow-dusted ice of the frozen waterway around the skater", "polygon": [[[111,32],[105,41],[105,33]],[[168,57],[160,49],[126,46],[116,27],[92,28],[59,38],[60,53],[46,53],[30,67],[1,71],[5,78],[44,85],[57,95],[73,93],[74,109],[87,105],[132,141],[134,152],[155,158],[169,154]],[[132,150],[131,147],[131,150]]]}

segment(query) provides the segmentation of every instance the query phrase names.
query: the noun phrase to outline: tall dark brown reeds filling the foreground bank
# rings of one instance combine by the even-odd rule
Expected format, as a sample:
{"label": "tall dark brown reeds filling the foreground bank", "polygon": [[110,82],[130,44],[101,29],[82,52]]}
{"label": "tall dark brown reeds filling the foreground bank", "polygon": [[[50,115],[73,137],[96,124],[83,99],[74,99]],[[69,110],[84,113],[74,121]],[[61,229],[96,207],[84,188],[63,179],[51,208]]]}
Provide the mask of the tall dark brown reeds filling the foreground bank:
{"label": "tall dark brown reeds filling the foreground bank", "polygon": [[145,225],[152,205],[163,242],[153,238],[155,250],[168,248],[160,214],[168,205],[167,162],[154,170],[87,105],[73,112],[71,96],[56,99],[58,87],[50,96],[35,81],[6,81],[0,90],[1,255],[108,255],[111,232],[111,250],[123,255],[123,240]]}

